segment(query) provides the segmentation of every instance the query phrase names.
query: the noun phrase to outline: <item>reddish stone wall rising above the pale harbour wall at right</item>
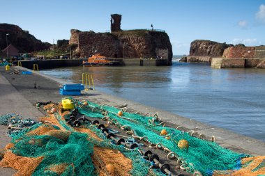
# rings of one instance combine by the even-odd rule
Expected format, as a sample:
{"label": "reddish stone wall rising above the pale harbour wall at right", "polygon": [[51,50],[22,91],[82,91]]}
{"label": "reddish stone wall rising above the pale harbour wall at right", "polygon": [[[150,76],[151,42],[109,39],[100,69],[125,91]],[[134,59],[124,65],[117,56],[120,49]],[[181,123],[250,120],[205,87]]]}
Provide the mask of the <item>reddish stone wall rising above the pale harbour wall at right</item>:
{"label": "reddish stone wall rising above the pale harbour wall at right", "polygon": [[255,58],[255,47],[229,47],[222,55],[225,58]]}

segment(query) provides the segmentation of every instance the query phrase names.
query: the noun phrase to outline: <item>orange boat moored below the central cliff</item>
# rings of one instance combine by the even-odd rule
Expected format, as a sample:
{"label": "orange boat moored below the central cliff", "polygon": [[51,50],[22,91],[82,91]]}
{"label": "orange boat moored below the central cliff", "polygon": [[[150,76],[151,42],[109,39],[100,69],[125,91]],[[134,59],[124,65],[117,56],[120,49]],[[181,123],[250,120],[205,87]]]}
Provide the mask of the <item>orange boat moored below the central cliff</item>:
{"label": "orange boat moored below the central cliff", "polygon": [[109,60],[106,56],[100,56],[100,54],[95,54],[87,61],[83,61],[83,66],[91,67],[91,66],[105,66],[105,65],[118,65],[116,61]]}

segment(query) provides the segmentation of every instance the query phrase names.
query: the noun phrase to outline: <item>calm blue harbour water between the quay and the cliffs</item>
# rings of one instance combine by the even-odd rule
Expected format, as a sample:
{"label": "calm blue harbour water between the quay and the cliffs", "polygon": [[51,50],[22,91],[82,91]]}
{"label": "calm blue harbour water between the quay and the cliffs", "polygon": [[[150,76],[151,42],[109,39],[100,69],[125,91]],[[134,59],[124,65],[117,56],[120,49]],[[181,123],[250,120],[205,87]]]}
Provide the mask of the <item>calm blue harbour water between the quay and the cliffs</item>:
{"label": "calm blue harbour water between the quay and the cliffs", "polygon": [[265,70],[174,62],[171,67],[65,67],[41,71],[104,93],[265,141]]}

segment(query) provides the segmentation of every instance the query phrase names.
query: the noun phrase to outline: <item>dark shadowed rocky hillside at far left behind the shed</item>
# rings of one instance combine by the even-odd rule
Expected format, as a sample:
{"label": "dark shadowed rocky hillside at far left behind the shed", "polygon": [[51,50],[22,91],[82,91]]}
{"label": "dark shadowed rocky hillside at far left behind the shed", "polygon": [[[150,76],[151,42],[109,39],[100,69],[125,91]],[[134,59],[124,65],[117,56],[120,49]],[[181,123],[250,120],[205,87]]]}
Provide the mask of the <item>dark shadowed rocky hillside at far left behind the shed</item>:
{"label": "dark shadowed rocky hillside at far left behind the shed", "polygon": [[51,44],[41,42],[36,39],[29,31],[22,30],[19,26],[13,24],[0,24],[0,49],[6,48],[6,34],[8,35],[8,44],[14,45],[20,52],[31,52],[49,49]]}

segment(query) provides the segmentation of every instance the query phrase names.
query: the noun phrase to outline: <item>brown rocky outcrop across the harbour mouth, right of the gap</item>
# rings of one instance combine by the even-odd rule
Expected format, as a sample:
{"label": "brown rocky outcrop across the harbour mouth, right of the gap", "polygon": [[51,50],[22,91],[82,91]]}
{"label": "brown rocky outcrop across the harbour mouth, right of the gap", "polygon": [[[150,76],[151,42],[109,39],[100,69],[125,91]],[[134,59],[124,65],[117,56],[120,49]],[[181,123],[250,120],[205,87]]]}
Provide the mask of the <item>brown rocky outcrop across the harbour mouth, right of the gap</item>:
{"label": "brown rocky outcrop across the harbour mouth, right of the gap", "polygon": [[190,56],[220,57],[226,48],[232,46],[210,40],[194,40],[190,44]]}

